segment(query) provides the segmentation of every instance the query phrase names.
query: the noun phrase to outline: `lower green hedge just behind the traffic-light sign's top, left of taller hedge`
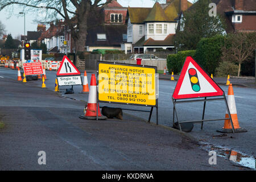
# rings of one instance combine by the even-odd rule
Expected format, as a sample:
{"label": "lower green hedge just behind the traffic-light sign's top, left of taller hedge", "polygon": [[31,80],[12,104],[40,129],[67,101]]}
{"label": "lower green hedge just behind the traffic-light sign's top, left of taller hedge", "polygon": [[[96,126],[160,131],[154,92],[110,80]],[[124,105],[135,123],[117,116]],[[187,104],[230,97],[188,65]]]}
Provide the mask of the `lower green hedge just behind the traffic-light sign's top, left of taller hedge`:
{"label": "lower green hedge just behind the traffic-light sign's top, left of taller hedge", "polygon": [[179,51],[176,54],[168,55],[167,57],[167,68],[169,73],[174,72],[174,74],[180,73],[185,59],[187,56],[192,56],[195,58],[196,50],[191,51]]}

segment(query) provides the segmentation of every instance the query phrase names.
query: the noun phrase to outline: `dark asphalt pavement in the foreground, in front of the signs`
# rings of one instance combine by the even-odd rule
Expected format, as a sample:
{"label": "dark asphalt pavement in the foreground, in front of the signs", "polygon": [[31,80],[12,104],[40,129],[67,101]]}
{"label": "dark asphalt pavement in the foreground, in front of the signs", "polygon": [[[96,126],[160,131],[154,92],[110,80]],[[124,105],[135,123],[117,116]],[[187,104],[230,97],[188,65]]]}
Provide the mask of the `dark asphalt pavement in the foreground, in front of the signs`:
{"label": "dark asphalt pavement in the foreground, in front of the signs", "polygon": [[[208,152],[191,135],[130,114],[123,120],[80,119],[85,102],[32,81],[0,77],[0,93],[6,125],[0,130],[0,170],[247,169],[219,156],[210,165]],[[46,165],[38,164],[39,151],[46,152]]]}

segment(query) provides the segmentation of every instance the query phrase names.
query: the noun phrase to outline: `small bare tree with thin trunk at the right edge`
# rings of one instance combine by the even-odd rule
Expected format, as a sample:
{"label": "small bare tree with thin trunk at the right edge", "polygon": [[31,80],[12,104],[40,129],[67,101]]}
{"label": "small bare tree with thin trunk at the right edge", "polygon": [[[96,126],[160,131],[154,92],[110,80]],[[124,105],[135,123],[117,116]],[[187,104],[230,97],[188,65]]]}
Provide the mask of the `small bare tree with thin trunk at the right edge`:
{"label": "small bare tree with thin trunk at the right edge", "polygon": [[253,56],[256,49],[256,33],[236,32],[229,34],[222,48],[222,60],[238,64],[237,76],[240,76],[241,63]]}

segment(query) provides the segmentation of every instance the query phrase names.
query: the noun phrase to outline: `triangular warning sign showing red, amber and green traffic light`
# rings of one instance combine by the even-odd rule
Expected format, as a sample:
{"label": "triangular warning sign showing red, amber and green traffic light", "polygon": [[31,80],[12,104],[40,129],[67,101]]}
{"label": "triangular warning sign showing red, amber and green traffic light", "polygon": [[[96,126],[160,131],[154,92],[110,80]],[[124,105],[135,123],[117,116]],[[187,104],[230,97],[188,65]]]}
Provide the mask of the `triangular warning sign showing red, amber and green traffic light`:
{"label": "triangular warning sign showing red, amber and green traffic light", "polygon": [[224,93],[191,56],[185,60],[172,97],[174,99],[222,96]]}

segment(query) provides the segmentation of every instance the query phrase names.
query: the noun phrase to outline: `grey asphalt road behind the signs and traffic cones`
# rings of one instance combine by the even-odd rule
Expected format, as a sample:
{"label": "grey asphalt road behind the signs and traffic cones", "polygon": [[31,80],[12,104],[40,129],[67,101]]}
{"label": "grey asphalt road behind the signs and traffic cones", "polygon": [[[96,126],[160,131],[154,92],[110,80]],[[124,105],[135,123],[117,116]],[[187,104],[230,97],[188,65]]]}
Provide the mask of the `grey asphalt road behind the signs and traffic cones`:
{"label": "grey asphalt road behind the signs and traffic cones", "polygon": [[[46,80],[46,86],[49,90],[54,90],[56,72],[46,72],[48,80]],[[10,69],[1,69],[0,76],[4,75],[9,78],[16,78],[16,71]],[[83,75],[83,74],[82,74]],[[88,82],[90,82],[90,73],[88,75]],[[30,81],[31,85],[40,86],[42,81]],[[160,80],[159,81],[159,125],[172,126],[172,101],[171,96],[174,92],[176,81]],[[227,94],[228,86],[220,85],[224,92]],[[60,88],[61,93],[64,94],[65,89]],[[82,86],[73,87],[75,94],[65,94],[65,97],[75,98],[76,100],[88,100],[88,94],[79,94],[82,90]],[[221,129],[224,125],[224,121],[212,121],[205,122],[203,130],[200,130],[200,124],[195,123],[194,128],[190,135],[197,138],[203,143],[213,144],[214,146],[225,146],[236,151],[243,152],[248,155],[255,156],[256,146],[256,92],[254,88],[240,88],[233,86],[234,95],[236,99],[236,107],[238,120],[240,126],[247,129],[247,133],[236,133],[221,135],[217,133],[217,129]],[[127,106],[127,105],[115,105],[115,104],[100,104],[100,106],[112,106],[122,107],[128,109],[150,110],[148,107],[141,106]],[[203,102],[195,102],[189,104],[177,105],[178,114],[181,120],[195,120],[201,119],[203,112]],[[139,111],[126,111],[125,113],[132,114],[136,117],[147,120],[148,113]],[[224,101],[212,101],[207,102],[205,119],[223,118],[225,116],[225,103]],[[151,122],[156,121],[155,109],[152,114]],[[221,137],[222,136],[222,137]]]}

